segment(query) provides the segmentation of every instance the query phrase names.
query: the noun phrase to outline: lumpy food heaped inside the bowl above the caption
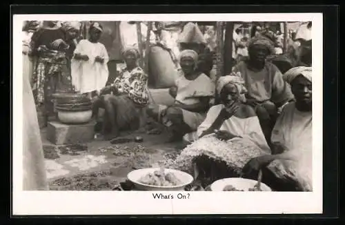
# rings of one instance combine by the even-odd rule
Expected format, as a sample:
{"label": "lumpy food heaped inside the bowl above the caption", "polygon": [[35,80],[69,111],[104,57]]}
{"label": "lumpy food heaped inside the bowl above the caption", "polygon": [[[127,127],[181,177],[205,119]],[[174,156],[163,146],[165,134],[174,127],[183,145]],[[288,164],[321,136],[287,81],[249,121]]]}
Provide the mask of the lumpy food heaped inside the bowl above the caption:
{"label": "lumpy food heaped inside the bowl above the caption", "polygon": [[148,173],[141,177],[138,181],[141,184],[155,185],[155,186],[177,186],[182,182],[176,177],[174,173],[165,173],[164,168],[156,170],[154,173]]}

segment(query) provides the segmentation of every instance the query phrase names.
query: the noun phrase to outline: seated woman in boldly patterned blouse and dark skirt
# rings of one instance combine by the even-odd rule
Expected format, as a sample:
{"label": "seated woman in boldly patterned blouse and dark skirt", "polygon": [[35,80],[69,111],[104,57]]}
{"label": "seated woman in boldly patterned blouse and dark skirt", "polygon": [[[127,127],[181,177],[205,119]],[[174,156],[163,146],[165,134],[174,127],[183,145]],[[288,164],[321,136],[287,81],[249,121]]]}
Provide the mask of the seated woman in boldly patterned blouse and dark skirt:
{"label": "seated woman in boldly patterned blouse and dark skirt", "polygon": [[136,48],[125,48],[123,57],[126,68],[94,99],[94,115],[99,108],[106,110],[103,121],[106,139],[117,137],[121,129],[144,126],[141,113],[148,104],[148,75],[137,65],[139,52]]}

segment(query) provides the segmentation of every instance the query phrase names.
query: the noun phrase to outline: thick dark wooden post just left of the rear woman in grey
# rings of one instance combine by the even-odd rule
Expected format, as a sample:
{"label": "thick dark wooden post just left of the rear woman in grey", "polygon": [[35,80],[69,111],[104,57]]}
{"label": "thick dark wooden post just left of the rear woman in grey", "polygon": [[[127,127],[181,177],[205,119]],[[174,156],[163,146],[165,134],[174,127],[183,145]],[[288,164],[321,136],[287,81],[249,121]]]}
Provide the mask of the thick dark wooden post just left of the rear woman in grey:
{"label": "thick dark wooden post just left of the rear woman in grey", "polygon": [[230,74],[233,68],[233,21],[226,22],[224,40],[224,74]]}

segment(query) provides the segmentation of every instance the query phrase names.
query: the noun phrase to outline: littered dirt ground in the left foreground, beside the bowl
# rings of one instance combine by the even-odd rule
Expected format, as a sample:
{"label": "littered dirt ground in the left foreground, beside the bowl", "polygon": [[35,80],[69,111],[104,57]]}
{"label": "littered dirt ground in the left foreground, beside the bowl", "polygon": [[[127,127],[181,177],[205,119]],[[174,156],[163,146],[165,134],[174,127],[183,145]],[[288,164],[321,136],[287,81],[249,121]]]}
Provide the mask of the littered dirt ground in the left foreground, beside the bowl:
{"label": "littered dirt ground in the left foreground, beside the bowl", "polygon": [[[67,153],[66,149],[63,150],[61,146],[55,146],[46,139],[46,129],[43,128],[41,138],[50,189],[111,190],[119,182],[126,181],[131,170],[150,167],[164,159],[164,154],[176,153],[183,147],[180,142],[167,143],[166,133],[121,133],[121,137],[126,138],[137,135],[143,137],[144,141],[111,144],[110,141],[95,139],[83,144],[85,149]],[[79,184],[72,184],[75,180]]]}

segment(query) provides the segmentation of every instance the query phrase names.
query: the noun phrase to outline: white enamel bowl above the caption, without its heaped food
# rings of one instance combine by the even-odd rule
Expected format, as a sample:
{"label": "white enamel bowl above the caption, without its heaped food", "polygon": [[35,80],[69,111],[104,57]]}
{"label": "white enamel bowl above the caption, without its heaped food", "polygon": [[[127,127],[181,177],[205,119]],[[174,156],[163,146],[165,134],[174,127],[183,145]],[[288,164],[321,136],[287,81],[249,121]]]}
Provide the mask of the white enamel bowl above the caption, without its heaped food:
{"label": "white enamel bowl above the caption, without its heaped food", "polygon": [[173,170],[169,168],[164,169],[164,173],[174,173],[174,175],[181,180],[181,184],[177,186],[155,186],[139,183],[141,177],[148,173],[154,173],[160,168],[143,168],[139,170],[133,170],[128,173],[127,178],[135,185],[137,190],[184,190],[184,187],[193,182],[193,177],[188,173],[184,173],[180,170]]}

